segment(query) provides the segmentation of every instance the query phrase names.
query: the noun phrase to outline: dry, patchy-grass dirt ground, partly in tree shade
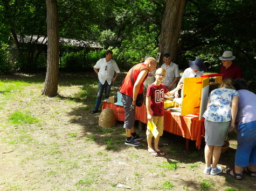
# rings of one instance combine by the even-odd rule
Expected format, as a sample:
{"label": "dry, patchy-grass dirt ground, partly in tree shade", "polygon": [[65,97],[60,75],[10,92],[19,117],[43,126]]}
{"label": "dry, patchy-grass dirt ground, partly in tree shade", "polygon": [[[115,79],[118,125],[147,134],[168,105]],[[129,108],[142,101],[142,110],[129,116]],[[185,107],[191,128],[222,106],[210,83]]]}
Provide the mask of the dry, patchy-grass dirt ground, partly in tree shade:
{"label": "dry, patchy-grass dirt ground, partly in tree shade", "polygon": [[[164,157],[149,155],[146,138],[138,148],[124,145],[123,122],[100,127],[100,113],[91,114],[95,98],[80,96],[91,84],[80,82],[86,75],[61,74],[56,98],[40,96],[40,83],[0,92],[0,190],[255,190],[255,178],[247,174],[241,181],[225,172],[205,175],[204,145],[197,150],[195,141],[186,153],[183,137],[164,132]],[[0,79],[41,82],[44,77]],[[15,111],[29,111],[39,122],[12,124],[8,119]],[[219,160],[224,169],[234,164],[236,134],[230,139],[231,148]]]}

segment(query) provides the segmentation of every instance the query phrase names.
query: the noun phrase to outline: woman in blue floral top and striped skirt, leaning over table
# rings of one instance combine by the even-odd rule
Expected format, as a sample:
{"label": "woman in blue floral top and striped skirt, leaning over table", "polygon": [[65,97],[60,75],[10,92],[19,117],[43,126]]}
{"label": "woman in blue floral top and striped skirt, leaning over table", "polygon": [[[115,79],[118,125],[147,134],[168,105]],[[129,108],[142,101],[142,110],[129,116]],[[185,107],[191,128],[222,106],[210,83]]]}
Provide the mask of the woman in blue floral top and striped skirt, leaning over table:
{"label": "woman in blue floral top and striped skirt, leaning over table", "polygon": [[222,172],[222,167],[217,164],[229,127],[235,126],[238,109],[239,94],[233,84],[232,78],[225,78],[220,88],[213,90],[208,97],[207,109],[203,115],[205,174],[216,175]]}

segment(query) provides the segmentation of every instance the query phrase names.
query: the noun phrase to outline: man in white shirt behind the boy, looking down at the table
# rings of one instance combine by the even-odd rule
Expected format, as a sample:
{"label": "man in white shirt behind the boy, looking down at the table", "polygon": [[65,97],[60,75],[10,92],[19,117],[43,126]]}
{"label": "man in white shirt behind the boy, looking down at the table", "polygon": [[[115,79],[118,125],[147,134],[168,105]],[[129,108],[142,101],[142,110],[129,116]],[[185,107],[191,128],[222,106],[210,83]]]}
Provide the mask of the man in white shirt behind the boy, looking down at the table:
{"label": "man in white shirt behind the boy, looking down at the table", "polygon": [[179,80],[179,68],[177,64],[171,62],[171,56],[168,53],[163,55],[163,61],[165,63],[161,65],[161,68],[165,69],[166,74],[162,83],[171,91],[175,89]]}

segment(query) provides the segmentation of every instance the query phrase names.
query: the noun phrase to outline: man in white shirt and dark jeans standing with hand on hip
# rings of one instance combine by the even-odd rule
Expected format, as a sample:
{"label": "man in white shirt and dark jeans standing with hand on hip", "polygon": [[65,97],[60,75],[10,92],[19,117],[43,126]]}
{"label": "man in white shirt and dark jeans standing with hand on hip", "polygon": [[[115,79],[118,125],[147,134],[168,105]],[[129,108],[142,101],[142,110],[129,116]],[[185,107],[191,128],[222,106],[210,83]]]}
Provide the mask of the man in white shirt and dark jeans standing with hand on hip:
{"label": "man in white shirt and dark jeans standing with hand on hip", "polygon": [[[112,83],[115,82],[117,76],[120,75],[120,70],[114,60],[112,60],[113,52],[107,50],[105,58],[101,58],[93,67],[96,74],[98,74],[98,94],[96,104],[91,114],[97,113],[103,91],[105,89],[105,99],[108,99]],[[115,74],[116,73],[116,74]],[[113,77],[115,74],[115,77]]]}

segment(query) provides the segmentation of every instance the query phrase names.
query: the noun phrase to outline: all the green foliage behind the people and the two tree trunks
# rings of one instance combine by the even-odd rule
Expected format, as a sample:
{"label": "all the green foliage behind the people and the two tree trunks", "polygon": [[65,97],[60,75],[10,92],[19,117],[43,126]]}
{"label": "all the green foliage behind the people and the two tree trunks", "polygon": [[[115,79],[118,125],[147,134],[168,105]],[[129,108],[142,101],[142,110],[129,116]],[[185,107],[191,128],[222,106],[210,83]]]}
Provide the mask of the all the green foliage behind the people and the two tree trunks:
{"label": "all the green foliage behind the people and the two tree trunks", "polygon": [[[60,36],[97,41],[104,47],[104,50],[68,53],[61,68],[92,69],[104,57],[106,49],[113,50],[113,60],[125,71],[143,61],[146,55],[156,57],[166,3],[163,0],[59,0]],[[45,68],[45,57],[39,56],[41,50],[36,42],[19,48],[9,38],[10,31],[21,36],[46,35],[45,1],[0,1],[0,8],[0,42],[5,44],[0,46],[0,70],[11,73]],[[218,73],[222,64],[218,57],[231,50],[235,62],[243,68],[244,78],[256,80],[256,70],[252,70],[256,64],[255,10],[253,0],[186,1],[182,31],[174,47],[178,49],[175,62],[179,68],[188,68],[189,60],[200,57],[208,71]],[[12,51],[6,47],[8,43]],[[68,52],[69,47],[62,48],[62,52]]]}

